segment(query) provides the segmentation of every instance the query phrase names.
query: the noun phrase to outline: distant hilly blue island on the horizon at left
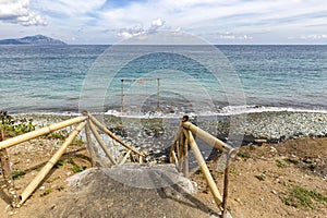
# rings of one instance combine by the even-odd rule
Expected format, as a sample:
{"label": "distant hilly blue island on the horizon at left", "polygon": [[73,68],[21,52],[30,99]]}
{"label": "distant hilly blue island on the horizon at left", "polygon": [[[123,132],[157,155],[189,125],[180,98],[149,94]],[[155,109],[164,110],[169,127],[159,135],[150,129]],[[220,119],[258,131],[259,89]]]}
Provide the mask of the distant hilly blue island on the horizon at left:
{"label": "distant hilly blue island on the horizon at left", "polygon": [[0,45],[32,45],[32,46],[62,46],[65,43],[44,35],[26,36],[0,40]]}

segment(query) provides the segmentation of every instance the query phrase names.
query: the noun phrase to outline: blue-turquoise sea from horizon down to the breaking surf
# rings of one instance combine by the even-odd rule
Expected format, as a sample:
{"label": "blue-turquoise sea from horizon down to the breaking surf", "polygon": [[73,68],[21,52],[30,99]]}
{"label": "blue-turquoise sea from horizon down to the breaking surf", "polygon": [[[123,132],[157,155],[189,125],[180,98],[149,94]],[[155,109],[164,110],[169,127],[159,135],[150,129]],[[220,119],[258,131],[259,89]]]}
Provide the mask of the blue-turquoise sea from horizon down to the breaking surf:
{"label": "blue-turquoise sea from horizon down to the breaking surf", "polygon": [[327,111],[326,45],[0,46],[0,110],[126,116]]}

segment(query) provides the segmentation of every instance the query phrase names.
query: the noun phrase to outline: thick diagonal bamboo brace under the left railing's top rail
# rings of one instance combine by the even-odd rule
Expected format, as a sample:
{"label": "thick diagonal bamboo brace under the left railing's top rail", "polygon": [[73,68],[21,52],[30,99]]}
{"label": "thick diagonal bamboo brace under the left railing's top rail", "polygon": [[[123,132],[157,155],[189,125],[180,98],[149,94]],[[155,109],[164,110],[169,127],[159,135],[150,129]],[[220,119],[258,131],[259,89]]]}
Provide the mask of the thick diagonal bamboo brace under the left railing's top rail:
{"label": "thick diagonal bamboo brace under the left railing's top rail", "polygon": [[73,142],[76,135],[81,132],[81,130],[85,126],[86,122],[81,123],[74,131],[71,132],[68,138],[65,138],[62,146],[57,150],[57,153],[50,158],[50,160],[46,164],[46,166],[38,172],[38,174],[33,179],[33,181],[27,185],[27,187],[20,195],[20,204],[21,206],[35,191],[35,189],[41,183],[41,181],[46,178],[52,167],[58,162],[66,147]]}

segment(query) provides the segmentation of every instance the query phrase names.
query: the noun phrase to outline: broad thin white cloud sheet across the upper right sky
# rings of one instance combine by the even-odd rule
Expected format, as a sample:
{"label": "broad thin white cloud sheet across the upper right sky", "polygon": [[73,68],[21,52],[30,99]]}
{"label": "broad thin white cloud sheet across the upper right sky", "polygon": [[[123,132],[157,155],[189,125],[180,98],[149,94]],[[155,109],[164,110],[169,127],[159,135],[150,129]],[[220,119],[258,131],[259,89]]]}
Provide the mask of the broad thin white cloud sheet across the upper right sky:
{"label": "broad thin white cloud sheet across the upper right sky", "polygon": [[[148,23],[159,16],[172,29],[181,27],[202,35],[217,32],[244,33],[243,38],[246,38],[253,33],[284,32],[292,26],[307,25],[317,20],[315,16],[324,16],[326,9],[327,1],[324,0],[158,0],[109,9],[101,12],[101,20],[113,28],[120,28]],[[327,16],[319,20],[327,22]]]}

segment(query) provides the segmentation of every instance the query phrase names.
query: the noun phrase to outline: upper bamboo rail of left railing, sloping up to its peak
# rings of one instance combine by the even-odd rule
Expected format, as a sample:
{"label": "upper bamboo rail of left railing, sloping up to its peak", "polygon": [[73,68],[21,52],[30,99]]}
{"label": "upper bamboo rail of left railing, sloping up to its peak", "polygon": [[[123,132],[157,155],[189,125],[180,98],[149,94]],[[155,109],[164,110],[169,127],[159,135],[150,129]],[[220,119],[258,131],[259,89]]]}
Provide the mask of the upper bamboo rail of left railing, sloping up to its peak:
{"label": "upper bamboo rail of left railing, sloping up to its peak", "polygon": [[73,118],[73,119],[70,119],[70,120],[62,121],[60,123],[56,123],[56,124],[52,124],[52,125],[49,125],[49,126],[46,126],[46,128],[35,130],[35,131],[29,132],[29,133],[25,133],[23,135],[19,135],[19,136],[5,140],[3,142],[0,142],[0,149],[8,148],[8,147],[11,147],[13,145],[26,142],[28,140],[33,140],[35,137],[41,136],[44,134],[53,132],[56,130],[60,130],[60,129],[70,126],[72,124],[82,122],[86,119],[87,119],[87,117]]}

